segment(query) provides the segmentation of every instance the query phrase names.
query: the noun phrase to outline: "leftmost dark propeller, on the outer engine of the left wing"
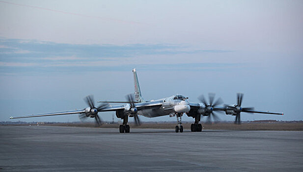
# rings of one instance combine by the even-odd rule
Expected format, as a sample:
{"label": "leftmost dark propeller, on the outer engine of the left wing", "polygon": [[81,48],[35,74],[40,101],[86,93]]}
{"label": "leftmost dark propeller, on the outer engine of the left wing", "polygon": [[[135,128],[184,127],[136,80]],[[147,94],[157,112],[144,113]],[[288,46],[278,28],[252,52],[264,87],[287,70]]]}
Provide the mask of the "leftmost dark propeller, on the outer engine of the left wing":
{"label": "leftmost dark propeller, on the outer engine of the left wing", "polygon": [[85,113],[84,114],[79,115],[80,120],[83,121],[87,117],[92,117],[92,118],[95,118],[96,124],[98,126],[101,126],[102,125],[102,120],[99,117],[98,112],[100,112],[103,109],[105,109],[106,107],[108,107],[109,104],[108,103],[102,103],[98,107],[95,107],[93,95],[86,96],[84,98],[84,101],[87,103],[87,105],[89,107],[85,108]]}

